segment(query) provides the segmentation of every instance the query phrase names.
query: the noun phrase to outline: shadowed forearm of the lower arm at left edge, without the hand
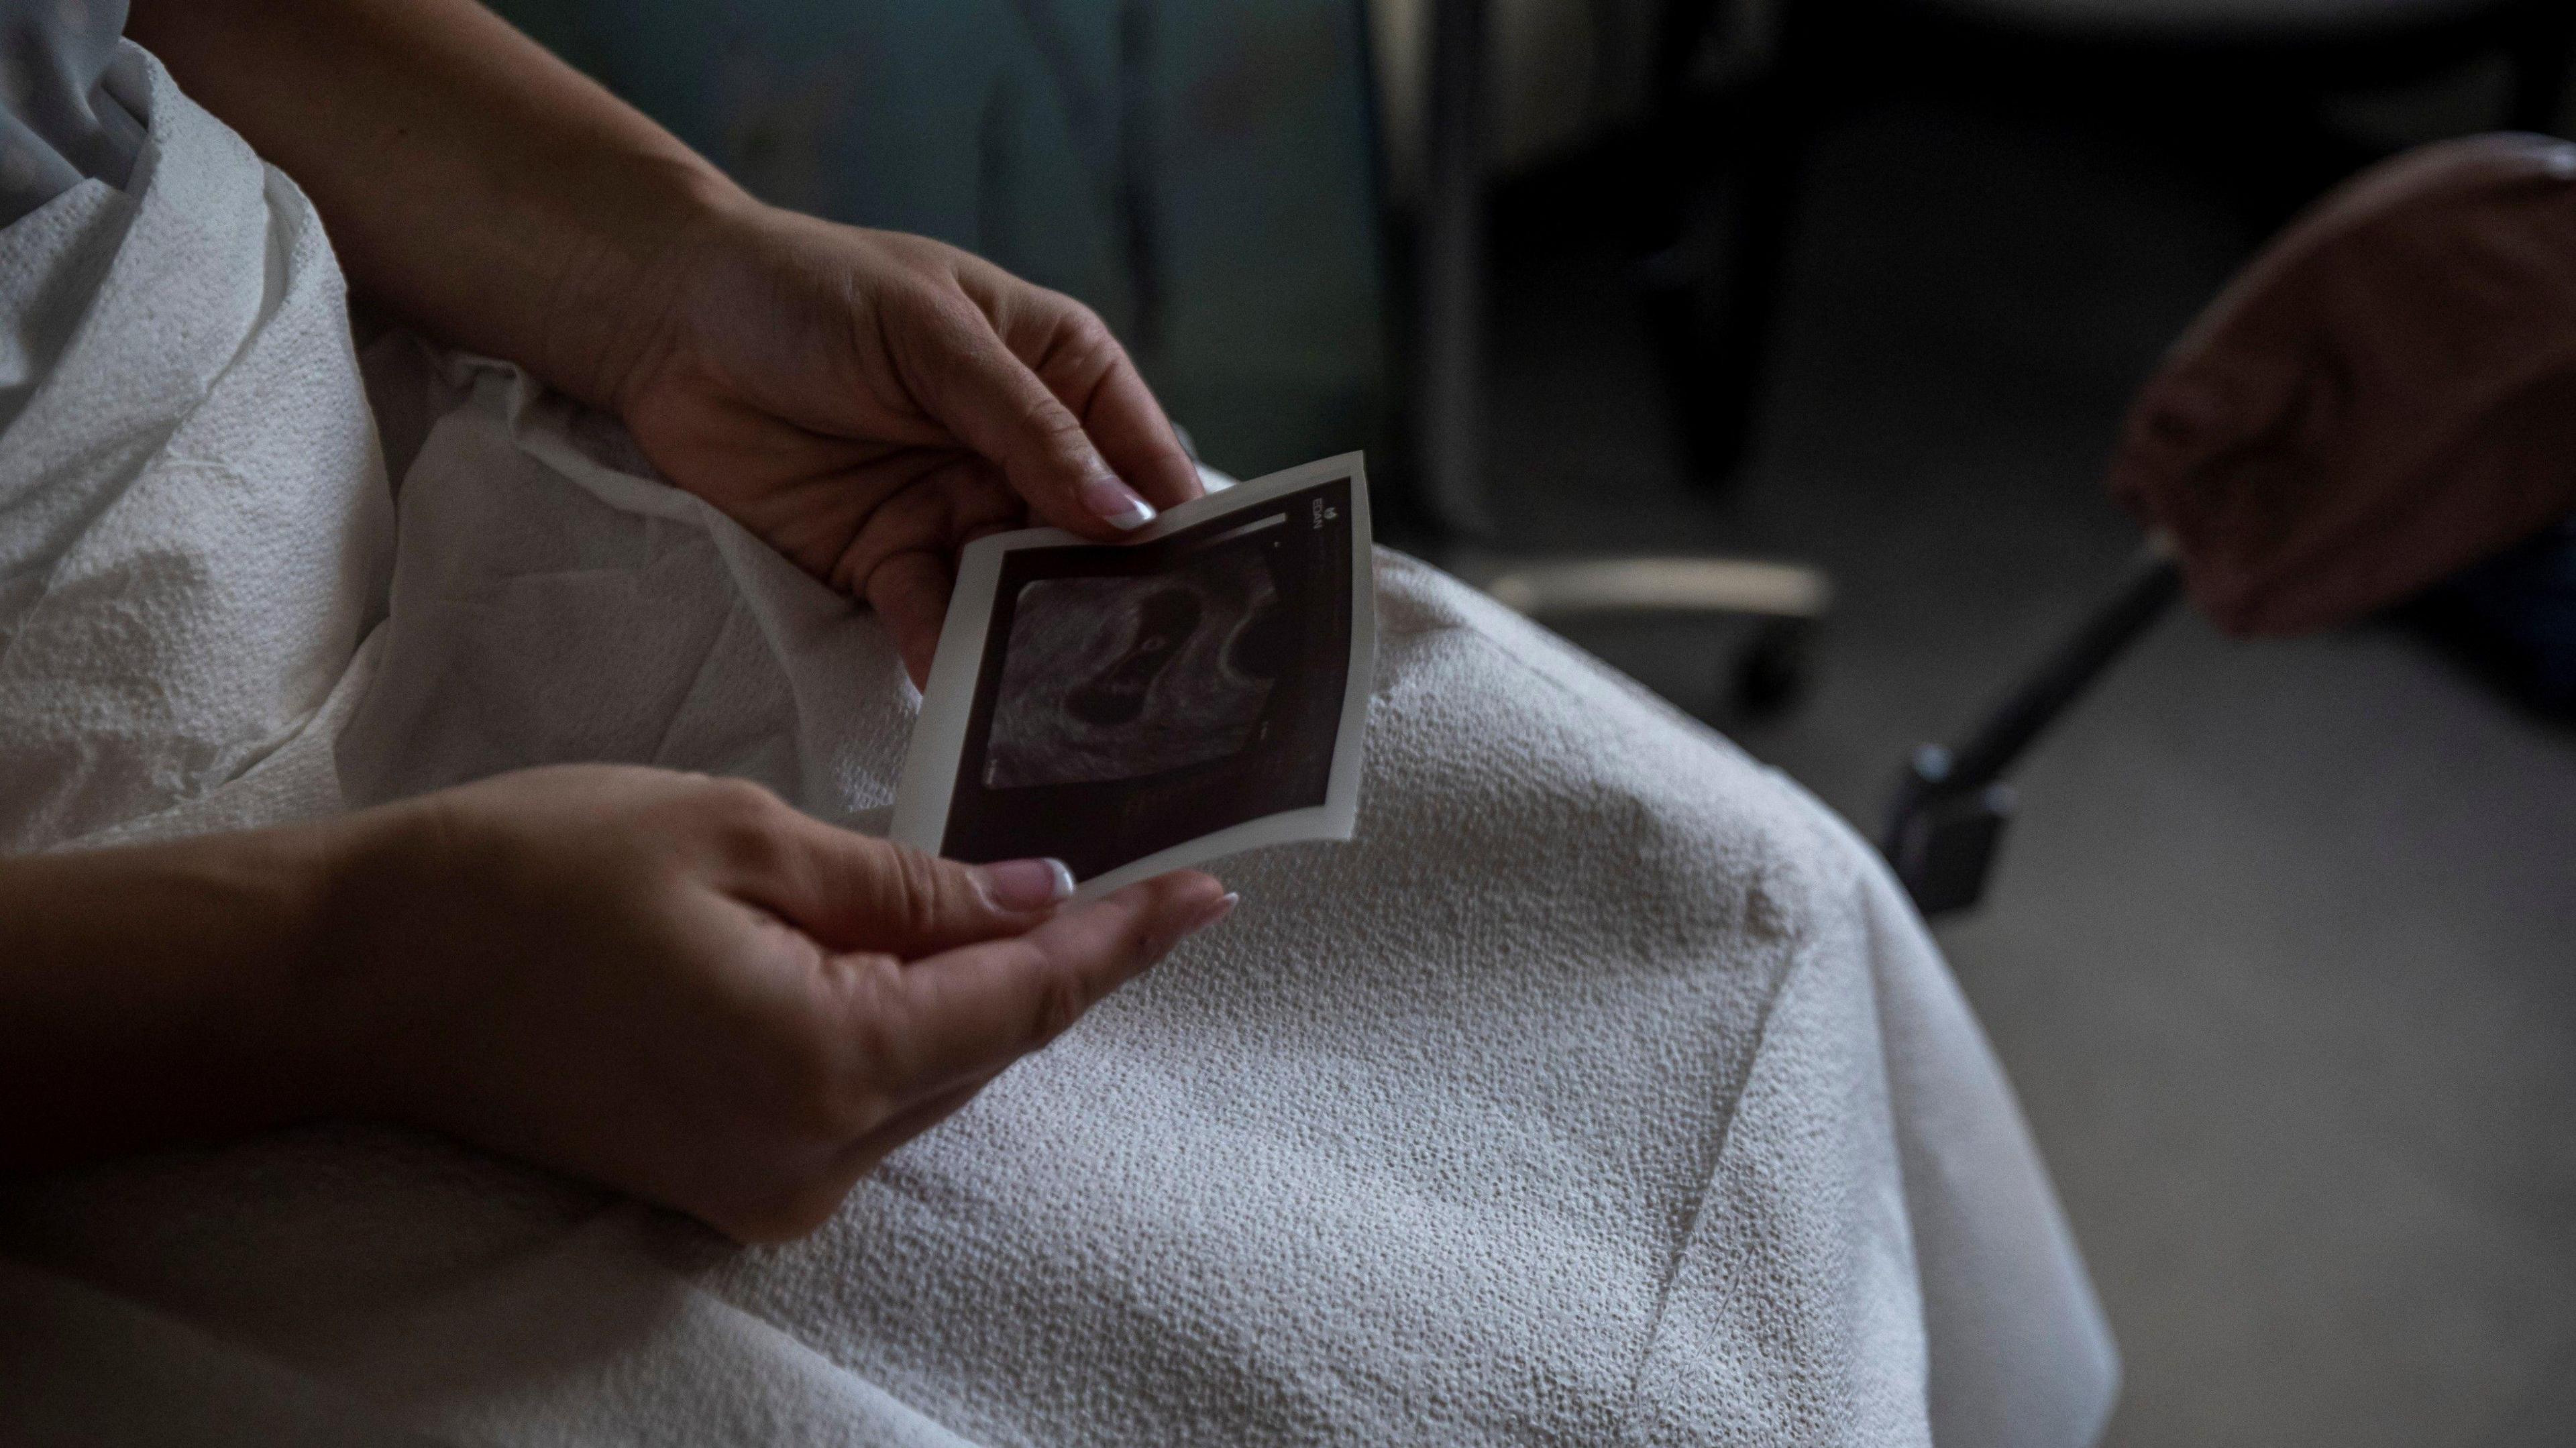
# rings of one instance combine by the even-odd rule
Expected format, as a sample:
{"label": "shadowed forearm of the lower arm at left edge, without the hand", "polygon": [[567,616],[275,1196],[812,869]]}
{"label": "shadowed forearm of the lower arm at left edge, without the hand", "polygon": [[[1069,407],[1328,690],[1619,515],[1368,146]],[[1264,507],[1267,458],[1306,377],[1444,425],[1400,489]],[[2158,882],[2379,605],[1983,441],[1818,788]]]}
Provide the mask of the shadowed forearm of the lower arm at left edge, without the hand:
{"label": "shadowed forearm of the lower arm at left edge, without the hand", "polygon": [[0,1170],[325,1113],[348,830],[0,858]]}

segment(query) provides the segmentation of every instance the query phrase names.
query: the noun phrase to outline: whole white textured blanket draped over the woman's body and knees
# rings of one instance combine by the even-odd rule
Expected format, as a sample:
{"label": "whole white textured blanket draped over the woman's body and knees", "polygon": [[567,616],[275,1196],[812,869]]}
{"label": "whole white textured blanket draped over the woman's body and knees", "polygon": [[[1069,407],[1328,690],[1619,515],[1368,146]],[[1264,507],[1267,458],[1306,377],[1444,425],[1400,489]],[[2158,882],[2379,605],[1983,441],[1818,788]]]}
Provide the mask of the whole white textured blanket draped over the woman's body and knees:
{"label": "whole white textured blanket draped over the woman's body and knees", "polygon": [[[0,232],[46,368],[0,433],[5,848],[544,760],[881,822],[873,618],[404,338],[389,518],[312,211],[131,82],[129,193]],[[5,1183],[0,1438],[2087,1443],[2107,1335],[1870,853],[1443,575],[1378,587],[1358,840],[1226,866],[1231,922],[814,1239],[366,1129]]]}

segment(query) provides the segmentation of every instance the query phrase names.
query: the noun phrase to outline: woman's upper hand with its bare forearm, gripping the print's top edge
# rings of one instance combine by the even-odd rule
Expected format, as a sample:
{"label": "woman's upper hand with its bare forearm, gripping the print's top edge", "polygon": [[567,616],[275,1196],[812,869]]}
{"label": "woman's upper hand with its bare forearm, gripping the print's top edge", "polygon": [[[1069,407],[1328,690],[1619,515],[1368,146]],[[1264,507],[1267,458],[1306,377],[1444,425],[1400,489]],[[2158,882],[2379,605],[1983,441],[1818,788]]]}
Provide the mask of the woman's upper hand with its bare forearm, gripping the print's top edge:
{"label": "woman's upper hand with its bare forearm, gripping the print's top edge", "polygon": [[129,33],[304,186],[353,283],[616,410],[873,603],[914,678],[966,538],[1028,513],[1108,538],[1198,497],[1082,304],[762,206],[474,0],[134,0]]}

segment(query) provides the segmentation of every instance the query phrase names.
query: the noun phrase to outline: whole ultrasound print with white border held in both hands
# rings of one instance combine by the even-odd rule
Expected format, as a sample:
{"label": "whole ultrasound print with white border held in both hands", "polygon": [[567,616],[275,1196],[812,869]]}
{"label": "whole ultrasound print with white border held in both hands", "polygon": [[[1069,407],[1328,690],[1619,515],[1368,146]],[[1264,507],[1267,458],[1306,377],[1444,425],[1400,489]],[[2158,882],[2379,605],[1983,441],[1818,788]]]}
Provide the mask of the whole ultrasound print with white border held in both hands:
{"label": "whole ultrasound print with white border held in both hands", "polygon": [[1056,855],[1084,894],[1347,840],[1373,657],[1358,453],[1175,508],[1136,541],[984,538],[958,567],[894,837]]}

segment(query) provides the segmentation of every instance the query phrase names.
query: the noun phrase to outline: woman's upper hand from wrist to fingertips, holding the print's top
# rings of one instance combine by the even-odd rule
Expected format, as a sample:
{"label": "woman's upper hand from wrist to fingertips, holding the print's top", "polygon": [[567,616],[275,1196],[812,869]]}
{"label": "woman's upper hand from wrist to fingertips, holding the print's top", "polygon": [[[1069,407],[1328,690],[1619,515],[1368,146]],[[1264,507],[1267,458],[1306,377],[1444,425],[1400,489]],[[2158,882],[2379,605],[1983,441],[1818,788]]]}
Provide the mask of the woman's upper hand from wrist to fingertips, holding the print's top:
{"label": "woman's upper hand from wrist to fingertips, holding the print's top", "polygon": [[1113,538],[1200,492],[1100,317],[927,237],[721,204],[631,314],[603,392],[644,456],[868,600],[914,680],[971,538],[1030,510]]}

